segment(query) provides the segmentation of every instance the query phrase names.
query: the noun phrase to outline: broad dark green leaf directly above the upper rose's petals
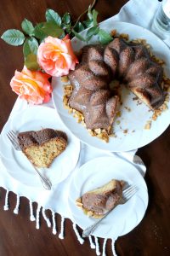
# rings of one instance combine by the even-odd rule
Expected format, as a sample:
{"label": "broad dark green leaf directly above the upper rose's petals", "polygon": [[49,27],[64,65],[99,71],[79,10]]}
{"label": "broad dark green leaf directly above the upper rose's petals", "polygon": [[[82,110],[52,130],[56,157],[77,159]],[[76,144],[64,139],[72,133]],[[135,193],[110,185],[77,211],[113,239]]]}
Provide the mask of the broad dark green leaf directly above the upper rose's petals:
{"label": "broad dark green leaf directly above the upper rose's petals", "polygon": [[59,38],[63,33],[63,29],[53,22],[39,23],[34,30],[35,37],[41,40],[48,36]]}

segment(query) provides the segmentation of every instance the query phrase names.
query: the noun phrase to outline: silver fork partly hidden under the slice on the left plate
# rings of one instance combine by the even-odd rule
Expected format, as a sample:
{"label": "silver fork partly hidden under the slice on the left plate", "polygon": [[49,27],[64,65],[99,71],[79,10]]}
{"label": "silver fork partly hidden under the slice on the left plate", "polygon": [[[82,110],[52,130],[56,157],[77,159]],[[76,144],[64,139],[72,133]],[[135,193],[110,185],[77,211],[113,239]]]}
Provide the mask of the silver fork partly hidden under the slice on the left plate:
{"label": "silver fork partly hidden under the slice on the left plate", "polygon": [[[21,151],[20,149],[20,144],[18,142],[18,139],[17,139],[17,133],[14,132],[14,131],[8,131],[7,133],[7,137],[9,139],[9,141],[12,143],[12,145],[14,146],[14,148],[18,151]],[[31,162],[30,162],[31,163]],[[33,165],[32,165],[33,166]],[[42,182],[42,185],[44,187],[44,189],[48,189],[50,190],[52,188],[52,183],[49,181],[48,177],[43,177],[42,176],[42,173],[39,172],[39,170],[37,169],[37,167],[33,166],[34,167],[34,170],[37,172],[37,174],[39,175],[40,177],[40,180]]]}

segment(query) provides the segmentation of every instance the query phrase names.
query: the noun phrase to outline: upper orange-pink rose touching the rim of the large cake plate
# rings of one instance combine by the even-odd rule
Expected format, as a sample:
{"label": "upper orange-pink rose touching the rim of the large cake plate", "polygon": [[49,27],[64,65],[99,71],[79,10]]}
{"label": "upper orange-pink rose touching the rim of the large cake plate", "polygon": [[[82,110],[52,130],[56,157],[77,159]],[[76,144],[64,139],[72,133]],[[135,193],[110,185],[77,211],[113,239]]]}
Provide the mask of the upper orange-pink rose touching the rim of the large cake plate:
{"label": "upper orange-pink rose touching the rim of the large cake plate", "polygon": [[65,38],[45,38],[37,50],[37,61],[42,69],[56,77],[67,75],[78,63],[69,35]]}

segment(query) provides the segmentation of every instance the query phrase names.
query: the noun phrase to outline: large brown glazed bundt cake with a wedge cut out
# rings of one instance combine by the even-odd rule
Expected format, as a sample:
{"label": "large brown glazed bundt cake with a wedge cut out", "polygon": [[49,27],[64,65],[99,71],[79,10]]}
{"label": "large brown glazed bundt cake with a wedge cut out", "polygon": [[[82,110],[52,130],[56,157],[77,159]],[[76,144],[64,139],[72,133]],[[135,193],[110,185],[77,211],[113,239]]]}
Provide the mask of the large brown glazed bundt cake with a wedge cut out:
{"label": "large brown glazed bundt cake with a wedge cut out", "polygon": [[152,61],[142,44],[130,44],[115,38],[106,45],[87,45],[82,49],[82,61],[69,73],[73,91],[69,106],[80,111],[88,129],[109,131],[116,115],[119,97],[109,84],[119,79],[150,109],[161,106],[163,70]]}

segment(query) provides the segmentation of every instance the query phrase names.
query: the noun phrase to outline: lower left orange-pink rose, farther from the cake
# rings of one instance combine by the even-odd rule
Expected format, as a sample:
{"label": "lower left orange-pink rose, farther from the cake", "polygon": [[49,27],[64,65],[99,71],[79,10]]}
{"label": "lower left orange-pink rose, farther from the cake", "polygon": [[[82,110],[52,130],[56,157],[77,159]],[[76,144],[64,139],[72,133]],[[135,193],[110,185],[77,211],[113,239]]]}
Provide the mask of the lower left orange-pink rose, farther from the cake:
{"label": "lower left orange-pink rose, farther from the cake", "polygon": [[33,104],[42,104],[48,102],[51,97],[52,87],[49,78],[48,74],[30,71],[25,66],[21,72],[15,71],[10,86],[21,99]]}

